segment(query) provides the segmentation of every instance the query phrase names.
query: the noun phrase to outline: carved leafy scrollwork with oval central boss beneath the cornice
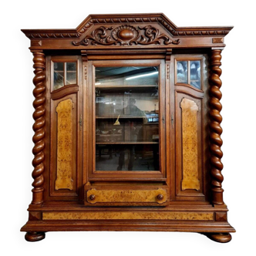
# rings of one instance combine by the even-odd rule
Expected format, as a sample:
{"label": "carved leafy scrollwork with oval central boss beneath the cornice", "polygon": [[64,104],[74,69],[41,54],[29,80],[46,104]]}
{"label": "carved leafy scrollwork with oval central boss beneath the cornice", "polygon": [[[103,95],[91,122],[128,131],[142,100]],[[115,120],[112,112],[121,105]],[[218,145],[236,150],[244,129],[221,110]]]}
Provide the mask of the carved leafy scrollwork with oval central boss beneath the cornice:
{"label": "carved leafy scrollwork with oval central boss beneath the cornice", "polygon": [[[144,31],[144,35],[141,31]],[[108,31],[112,31],[108,33]],[[180,39],[171,40],[166,34],[160,32],[152,25],[146,27],[139,26],[138,29],[131,25],[121,25],[114,29],[113,27],[106,28],[104,26],[95,29],[91,35],[87,35],[81,42],[72,42],[73,45],[89,45],[91,40],[92,45],[152,45],[161,44],[161,40],[165,45],[178,45]]]}

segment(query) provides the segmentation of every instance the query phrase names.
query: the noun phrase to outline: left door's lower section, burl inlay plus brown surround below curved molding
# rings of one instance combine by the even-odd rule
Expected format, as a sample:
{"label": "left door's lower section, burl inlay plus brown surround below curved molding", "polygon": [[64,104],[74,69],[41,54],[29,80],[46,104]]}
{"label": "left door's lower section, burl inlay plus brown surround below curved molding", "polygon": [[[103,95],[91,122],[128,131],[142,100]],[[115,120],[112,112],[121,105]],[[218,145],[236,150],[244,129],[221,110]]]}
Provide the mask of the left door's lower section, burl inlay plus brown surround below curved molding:
{"label": "left door's lower section, burl inlay plus brown surround below curved molding", "polygon": [[52,99],[51,196],[77,195],[77,94]]}

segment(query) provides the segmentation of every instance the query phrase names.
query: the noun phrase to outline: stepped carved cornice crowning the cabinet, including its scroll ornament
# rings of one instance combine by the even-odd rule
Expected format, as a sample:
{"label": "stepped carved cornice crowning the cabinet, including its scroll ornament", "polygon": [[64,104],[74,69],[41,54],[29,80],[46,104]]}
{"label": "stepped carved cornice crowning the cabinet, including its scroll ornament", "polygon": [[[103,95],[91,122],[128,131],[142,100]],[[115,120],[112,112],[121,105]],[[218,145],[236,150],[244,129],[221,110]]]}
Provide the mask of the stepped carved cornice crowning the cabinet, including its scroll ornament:
{"label": "stepped carved cornice crowning the cabinet, including its scroll ornament", "polygon": [[[224,37],[233,29],[234,25],[177,26],[163,12],[150,12],[90,14],[76,29],[21,29],[21,32],[25,33],[30,40],[70,39],[72,48],[79,46],[85,49],[85,46],[94,47],[96,45],[182,46],[180,40],[191,37],[220,37],[219,40],[215,40],[215,42],[213,40],[212,43],[218,43],[217,46],[225,46]],[[209,45],[208,41],[207,45]],[[34,43],[31,46],[49,47],[47,43],[42,45],[42,42],[41,45],[39,42],[38,45]],[[57,44],[53,46],[53,48],[57,47]],[[67,48],[67,45],[65,47]],[[62,48],[61,45],[60,48]]]}

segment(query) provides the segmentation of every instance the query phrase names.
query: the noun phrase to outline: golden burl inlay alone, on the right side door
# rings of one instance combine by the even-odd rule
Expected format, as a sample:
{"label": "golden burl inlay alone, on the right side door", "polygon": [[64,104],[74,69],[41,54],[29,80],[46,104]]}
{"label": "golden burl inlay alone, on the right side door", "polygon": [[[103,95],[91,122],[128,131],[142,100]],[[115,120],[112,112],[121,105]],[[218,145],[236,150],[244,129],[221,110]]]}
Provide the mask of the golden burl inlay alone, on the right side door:
{"label": "golden burl inlay alone, on the right side door", "polygon": [[197,112],[198,106],[193,100],[182,99],[182,143],[183,143],[183,180],[182,190],[200,190],[198,180],[198,139]]}

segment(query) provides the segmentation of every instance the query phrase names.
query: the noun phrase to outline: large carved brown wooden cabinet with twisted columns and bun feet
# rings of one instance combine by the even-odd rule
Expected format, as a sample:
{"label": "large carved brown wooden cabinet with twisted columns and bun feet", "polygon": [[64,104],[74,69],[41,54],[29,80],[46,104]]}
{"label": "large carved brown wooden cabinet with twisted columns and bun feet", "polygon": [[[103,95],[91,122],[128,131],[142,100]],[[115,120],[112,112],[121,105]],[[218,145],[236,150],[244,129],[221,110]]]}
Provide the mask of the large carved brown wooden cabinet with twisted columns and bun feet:
{"label": "large carved brown wooden cabinet with twisted columns and bun feet", "polygon": [[232,29],[179,27],[162,12],[21,29],[35,69],[27,240],[55,231],[231,240],[221,66]]}

